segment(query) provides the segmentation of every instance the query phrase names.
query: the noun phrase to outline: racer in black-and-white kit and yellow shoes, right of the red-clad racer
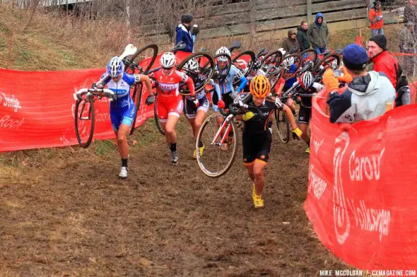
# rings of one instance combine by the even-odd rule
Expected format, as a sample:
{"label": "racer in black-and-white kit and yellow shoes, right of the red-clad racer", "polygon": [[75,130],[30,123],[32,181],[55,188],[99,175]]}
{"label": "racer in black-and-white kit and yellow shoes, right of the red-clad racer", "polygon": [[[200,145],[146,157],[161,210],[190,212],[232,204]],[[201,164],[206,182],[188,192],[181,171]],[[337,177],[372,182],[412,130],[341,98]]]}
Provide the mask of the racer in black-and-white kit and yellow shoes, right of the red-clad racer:
{"label": "racer in black-and-white kit and yellow shoes, right of the red-clad racer", "polygon": [[[199,63],[196,59],[189,59],[186,64],[184,64],[184,69],[187,69],[188,72],[196,72],[199,69]],[[190,73],[192,74],[192,73]],[[196,76],[193,80],[198,80],[194,86],[198,87],[200,84],[204,83],[206,79],[203,76]],[[201,82],[201,83],[200,83]],[[187,114],[187,119],[189,124],[192,126],[192,132],[194,138],[196,139],[197,134],[199,133],[199,129],[201,124],[206,117],[207,111],[209,110],[210,104],[209,99],[207,99],[205,88],[200,90],[195,95],[195,99],[198,100],[196,102],[191,95],[187,95],[186,97],[186,105],[185,105],[185,113]],[[199,153],[203,155],[204,152],[204,145],[202,141],[199,141]],[[197,158],[196,150],[194,150],[194,154],[192,158]]]}

